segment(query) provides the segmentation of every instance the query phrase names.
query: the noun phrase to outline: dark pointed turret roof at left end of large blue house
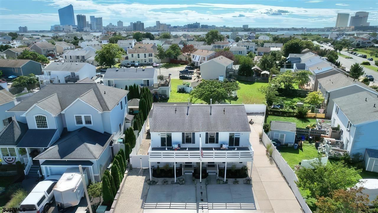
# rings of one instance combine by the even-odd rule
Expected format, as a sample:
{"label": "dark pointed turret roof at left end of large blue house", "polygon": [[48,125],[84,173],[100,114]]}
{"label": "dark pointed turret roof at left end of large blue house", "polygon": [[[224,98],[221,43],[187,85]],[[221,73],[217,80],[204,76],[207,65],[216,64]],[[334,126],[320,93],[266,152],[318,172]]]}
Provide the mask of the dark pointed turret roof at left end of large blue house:
{"label": "dark pointed turret roof at left end of large blue house", "polygon": [[0,132],[1,146],[16,146],[28,130],[28,125],[21,122],[11,121],[9,125]]}

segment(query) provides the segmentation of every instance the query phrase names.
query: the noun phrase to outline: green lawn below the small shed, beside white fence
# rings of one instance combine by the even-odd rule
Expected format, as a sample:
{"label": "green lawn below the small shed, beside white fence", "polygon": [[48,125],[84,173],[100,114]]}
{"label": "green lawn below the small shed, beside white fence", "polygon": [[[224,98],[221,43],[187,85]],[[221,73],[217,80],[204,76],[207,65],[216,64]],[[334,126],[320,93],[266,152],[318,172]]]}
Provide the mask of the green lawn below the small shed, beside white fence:
{"label": "green lawn below the small shed, beside white fence", "polygon": [[315,149],[315,144],[309,144],[308,141],[303,143],[303,151],[294,149],[294,147],[280,147],[277,149],[282,155],[283,159],[293,169],[295,165],[302,160],[310,160],[318,157],[318,151]]}

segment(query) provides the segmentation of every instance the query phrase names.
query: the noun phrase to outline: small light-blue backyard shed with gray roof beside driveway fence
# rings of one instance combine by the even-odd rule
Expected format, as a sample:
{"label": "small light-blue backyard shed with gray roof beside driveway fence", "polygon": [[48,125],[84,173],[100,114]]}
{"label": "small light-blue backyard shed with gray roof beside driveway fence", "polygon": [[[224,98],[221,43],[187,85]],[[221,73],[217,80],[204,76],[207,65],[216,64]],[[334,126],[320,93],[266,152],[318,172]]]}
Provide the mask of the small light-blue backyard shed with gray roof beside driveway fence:
{"label": "small light-blue backyard shed with gray roof beside driveway fence", "polygon": [[296,123],[271,121],[269,139],[279,140],[281,144],[294,144]]}

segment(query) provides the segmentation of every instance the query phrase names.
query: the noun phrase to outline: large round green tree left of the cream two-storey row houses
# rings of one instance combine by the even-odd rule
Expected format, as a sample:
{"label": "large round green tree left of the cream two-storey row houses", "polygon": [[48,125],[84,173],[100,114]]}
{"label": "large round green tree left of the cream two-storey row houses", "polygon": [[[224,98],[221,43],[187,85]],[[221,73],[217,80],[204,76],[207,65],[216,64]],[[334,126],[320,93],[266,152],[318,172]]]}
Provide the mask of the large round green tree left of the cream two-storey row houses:
{"label": "large round green tree left of the cream two-storey row houses", "polygon": [[96,51],[95,60],[99,66],[112,67],[116,58],[121,58],[122,48],[117,44],[104,44],[102,49]]}

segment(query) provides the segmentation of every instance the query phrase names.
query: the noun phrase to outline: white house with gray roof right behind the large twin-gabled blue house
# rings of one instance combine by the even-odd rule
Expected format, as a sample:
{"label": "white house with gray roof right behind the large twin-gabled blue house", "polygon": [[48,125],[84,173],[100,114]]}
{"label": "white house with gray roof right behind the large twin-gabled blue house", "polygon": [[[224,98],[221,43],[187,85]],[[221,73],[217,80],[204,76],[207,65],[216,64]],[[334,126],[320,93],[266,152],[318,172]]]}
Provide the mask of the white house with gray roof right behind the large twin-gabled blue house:
{"label": "white house with gray roof right behind the large twin-gabled blue house", "polygon": [[88,63],[53,62],[39,75],[39,84],[43,88],[50,83],[75,83],[95,75],[96,67]]}

